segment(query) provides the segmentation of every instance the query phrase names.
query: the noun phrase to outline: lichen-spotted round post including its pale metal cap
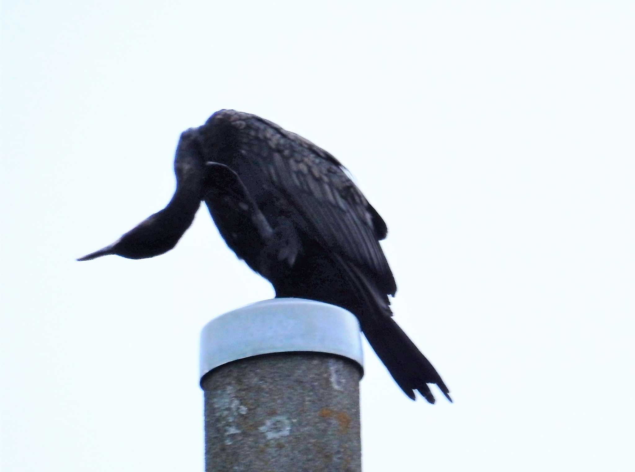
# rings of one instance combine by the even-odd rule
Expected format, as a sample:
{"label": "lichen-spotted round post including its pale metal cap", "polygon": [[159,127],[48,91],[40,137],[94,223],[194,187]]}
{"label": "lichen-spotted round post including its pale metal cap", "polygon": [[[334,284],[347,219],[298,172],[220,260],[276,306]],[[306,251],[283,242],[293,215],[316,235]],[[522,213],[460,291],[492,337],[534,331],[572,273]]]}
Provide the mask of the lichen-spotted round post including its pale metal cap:
{"label": "lichen-spotted round post including its pale metal cap", "polygon": [[361,471],[357,319],[283,298],[217,317],[201,333],[205,469]]}

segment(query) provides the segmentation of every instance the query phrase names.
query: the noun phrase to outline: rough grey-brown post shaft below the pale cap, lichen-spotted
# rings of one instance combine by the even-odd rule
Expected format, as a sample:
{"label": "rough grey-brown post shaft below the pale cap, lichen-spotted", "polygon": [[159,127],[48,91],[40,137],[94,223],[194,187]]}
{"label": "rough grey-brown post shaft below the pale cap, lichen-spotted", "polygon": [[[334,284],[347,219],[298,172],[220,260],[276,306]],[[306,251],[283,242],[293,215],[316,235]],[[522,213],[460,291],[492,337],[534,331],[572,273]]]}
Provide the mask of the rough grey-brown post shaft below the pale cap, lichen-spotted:
{"label": "rough grey-brown post shaft below the pale cap, lichen-spotted", "polygon": [[360,378],[356,363],[314,352],[215,369],[201,382],[206,471],[361,471]]}

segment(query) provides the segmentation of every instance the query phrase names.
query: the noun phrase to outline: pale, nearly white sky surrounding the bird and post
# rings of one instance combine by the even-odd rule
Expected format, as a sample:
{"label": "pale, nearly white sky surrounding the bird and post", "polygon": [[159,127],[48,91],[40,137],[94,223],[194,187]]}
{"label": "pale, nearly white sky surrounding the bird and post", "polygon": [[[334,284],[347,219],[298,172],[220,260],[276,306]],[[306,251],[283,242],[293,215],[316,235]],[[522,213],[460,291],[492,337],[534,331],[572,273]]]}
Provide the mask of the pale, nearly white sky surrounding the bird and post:
{"label": "pale, nearly white sky surrounding the bird and post", "polygon": [[[3,472],[202,471],[199,329],[272,296],[161,209],[221,108],[333,153],[389,225],[396,319],[455,403],[367,350],[364,471],[633,464],[632,2],[4,1]],[[439,397],[439,392],[436,391]]]}

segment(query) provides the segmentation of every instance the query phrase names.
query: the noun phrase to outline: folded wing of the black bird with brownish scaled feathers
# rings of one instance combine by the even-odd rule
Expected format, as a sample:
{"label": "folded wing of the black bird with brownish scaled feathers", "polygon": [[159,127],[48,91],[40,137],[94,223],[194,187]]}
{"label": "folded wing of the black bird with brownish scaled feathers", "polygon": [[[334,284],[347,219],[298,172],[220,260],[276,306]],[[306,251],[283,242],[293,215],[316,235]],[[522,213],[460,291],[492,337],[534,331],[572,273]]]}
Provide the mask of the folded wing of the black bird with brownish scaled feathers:
{"label": "folded wing of the black bird with brownish scaled feathers", "polygon": [[[223,110],[204,125],[222,128],[239,158],[257,163],[254,176],[271,184],[299,214],[309,235],[344,256],[394,295],[396,284],[379,240],[384,220],[368,204],[340,162],[310,141],[255,115]],[[248,177],[243,177],[248,178]]]}

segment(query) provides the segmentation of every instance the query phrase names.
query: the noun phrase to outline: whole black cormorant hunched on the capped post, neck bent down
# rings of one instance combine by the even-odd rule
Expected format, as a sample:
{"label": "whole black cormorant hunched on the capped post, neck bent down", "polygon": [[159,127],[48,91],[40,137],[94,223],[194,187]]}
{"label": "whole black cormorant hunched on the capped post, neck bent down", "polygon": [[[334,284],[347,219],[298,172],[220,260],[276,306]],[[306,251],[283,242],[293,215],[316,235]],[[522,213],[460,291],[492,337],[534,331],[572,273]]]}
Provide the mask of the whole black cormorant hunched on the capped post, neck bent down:
{"label": "whole black cormorant hunched on the capped post, neck bent down", "polygon": [[109,246],[142,259],[173,249],[201,202],[236,256],[271,282],[276,298],[305,298],[357,317],[369,344],[410,399],[452,401],[438,371],[392,317],[397,286],[380,241],[387,225],[335,156],[256,115],[217,111],[185,130],[170,203]]}

